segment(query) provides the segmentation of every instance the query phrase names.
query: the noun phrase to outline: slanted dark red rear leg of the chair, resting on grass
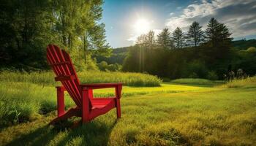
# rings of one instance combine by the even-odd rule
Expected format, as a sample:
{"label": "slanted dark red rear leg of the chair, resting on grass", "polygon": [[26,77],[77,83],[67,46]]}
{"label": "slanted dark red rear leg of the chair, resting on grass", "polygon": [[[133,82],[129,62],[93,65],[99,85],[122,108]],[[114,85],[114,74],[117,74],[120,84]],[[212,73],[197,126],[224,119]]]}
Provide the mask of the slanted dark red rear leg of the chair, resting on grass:
{"label": "slanted dark red rear leg of the chair, resting on grass", "polygon": [[79,115],[80,115],[80,110],[78,110],[77,108],[71,108],[70,110],[68,110],[63,115],[60,115],[59,117],[50,121],[49,125],[53,125],[55,123],[58,123],[61,120],[67,120],[68,118],[71,118],[73,116],[79,116]]}

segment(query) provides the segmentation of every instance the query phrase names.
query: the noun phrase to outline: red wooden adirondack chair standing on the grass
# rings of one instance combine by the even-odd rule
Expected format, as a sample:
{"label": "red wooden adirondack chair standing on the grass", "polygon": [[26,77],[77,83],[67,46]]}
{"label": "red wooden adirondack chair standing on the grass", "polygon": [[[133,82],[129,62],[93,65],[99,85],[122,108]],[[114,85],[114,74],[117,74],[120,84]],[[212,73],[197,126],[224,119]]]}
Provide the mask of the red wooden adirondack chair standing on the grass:
{"label": "red wooden adirondack chair standing on the grass", "polygon": [[[47,60],[56,74],[55,80],[62,83],[62,86],[56,87],[58,117],[53,119],[50,124],[73,116],[81,117],[82,123],[86,123],[115,107],[117,118],[121,118],[120,98],[123,82],[80,84],[69,54],[56,45],[48,45]],[[116,96],[94,98],[93,90],[100,88],[115,88]],[[69,93],[76,104],[76,107],[67,112],[64,109],[64,91]]]}

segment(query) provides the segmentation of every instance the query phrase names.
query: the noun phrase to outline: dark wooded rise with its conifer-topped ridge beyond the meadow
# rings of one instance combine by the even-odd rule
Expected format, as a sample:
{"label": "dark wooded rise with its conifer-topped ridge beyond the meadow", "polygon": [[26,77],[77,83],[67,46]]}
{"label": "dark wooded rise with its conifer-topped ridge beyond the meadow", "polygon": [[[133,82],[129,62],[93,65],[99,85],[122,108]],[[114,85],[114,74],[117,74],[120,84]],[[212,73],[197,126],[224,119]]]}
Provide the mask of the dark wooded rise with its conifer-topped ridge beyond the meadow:
{"label": "dark wooded rise with its conifer-topped ridge beyond the meadow", "polygon": [[159,77],[201,77],[223,79],[231,70],[245,69],[256,74],[255,54],[239,52],[231,45],[227,26],[215,18],[208,21],[206,30],[193,22],[184,32],[164,28],[155,37],[154,31],[138,37],[124,60],[124,72],[147,72]]}

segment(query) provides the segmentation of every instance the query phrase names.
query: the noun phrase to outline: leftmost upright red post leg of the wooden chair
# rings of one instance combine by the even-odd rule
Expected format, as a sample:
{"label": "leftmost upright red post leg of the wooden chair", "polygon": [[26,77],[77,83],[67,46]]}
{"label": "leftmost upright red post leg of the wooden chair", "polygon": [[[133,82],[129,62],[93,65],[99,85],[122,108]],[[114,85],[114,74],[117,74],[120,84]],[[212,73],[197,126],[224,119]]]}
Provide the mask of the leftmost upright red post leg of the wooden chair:
{"label": "leftmost upright red post leg of the wooden chair", "polygon": [[65,100],[64,100],[64,91],[63,86],[57,88],[57,108],[58,108],[58,117],[64,115],[65,113]]}

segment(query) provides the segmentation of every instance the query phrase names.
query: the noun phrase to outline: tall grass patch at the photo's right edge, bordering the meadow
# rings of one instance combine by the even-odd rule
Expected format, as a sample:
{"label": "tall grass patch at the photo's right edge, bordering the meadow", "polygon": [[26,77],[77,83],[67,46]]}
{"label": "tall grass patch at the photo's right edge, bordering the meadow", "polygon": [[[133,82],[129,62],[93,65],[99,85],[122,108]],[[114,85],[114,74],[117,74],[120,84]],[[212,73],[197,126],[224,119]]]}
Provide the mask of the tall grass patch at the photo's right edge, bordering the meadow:
{"label": "tall grass patch at the photo's right edge, bordering the meadow", "polygon": [[256,76],[254,77],[247,77],[245,79],[234,79],[230,80],[229,82],[221,85],[222,88],[238,88],[238,87],[249,87],[256,85]]}

